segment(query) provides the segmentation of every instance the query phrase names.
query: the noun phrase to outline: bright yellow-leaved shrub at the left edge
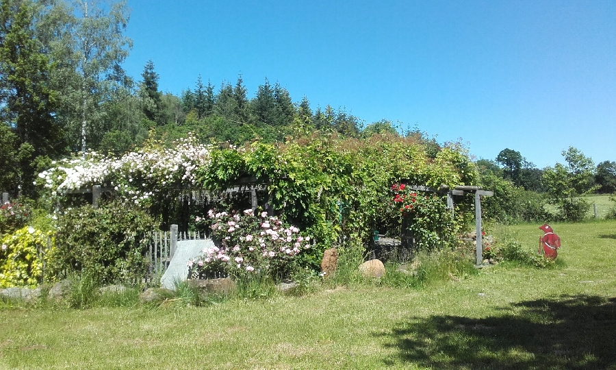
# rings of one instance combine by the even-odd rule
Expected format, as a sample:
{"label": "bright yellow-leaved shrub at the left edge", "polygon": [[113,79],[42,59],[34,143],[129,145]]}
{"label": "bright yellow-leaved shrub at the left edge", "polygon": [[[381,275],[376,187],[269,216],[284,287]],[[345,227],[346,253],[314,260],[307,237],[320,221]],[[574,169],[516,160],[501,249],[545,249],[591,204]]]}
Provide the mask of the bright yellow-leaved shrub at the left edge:
{"label": "bright yellow-leaved shrub at the left edge", "polygon": [[0,243],[0,288],[36,286],[42,282],[47,253],[53,252],[50,235],[26,226],[2,236]]}

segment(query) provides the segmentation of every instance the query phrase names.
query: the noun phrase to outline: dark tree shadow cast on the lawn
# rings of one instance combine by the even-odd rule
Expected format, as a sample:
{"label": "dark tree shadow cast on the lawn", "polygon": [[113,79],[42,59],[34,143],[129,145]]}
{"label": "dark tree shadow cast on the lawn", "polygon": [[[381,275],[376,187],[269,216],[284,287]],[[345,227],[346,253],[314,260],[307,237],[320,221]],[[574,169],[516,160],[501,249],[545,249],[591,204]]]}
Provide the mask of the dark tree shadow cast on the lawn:
{"label": "dark tree shadow cast on the lawn", "polygon": [[414,318],[378,335],[403,362],[433,369],[616,369],[616,298],[522,301],[485,319]]}

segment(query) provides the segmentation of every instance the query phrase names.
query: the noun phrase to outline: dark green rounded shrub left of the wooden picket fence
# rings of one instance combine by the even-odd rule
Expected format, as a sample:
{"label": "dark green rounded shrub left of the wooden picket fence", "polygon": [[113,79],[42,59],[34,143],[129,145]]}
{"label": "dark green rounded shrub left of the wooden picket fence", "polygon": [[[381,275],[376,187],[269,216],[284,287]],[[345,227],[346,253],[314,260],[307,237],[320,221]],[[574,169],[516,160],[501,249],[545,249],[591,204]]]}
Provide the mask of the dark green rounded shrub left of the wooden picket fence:
{"label": "dark green rounded shrub left of the wooden picket fence", "polygon": [[97,284],[140,278],[148,266],[146,235],[154,224],[143,211],[119,201],[67,210],[58,219],[51,272],[56,278],[74,272]]}

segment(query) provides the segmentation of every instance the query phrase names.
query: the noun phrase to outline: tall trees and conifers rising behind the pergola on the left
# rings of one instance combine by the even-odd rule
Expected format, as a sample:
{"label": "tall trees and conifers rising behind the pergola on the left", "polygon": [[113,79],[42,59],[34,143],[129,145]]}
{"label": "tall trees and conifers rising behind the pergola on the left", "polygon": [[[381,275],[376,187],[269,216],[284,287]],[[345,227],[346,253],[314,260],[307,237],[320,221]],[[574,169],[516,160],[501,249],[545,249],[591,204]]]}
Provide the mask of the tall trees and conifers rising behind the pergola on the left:
{"label": "tall trees and conifers rising behind the pergola on the left", "polygon": [[146,138],[171,142],[285,140],[314,130],[346,136],[387,130],[331,106],[312,111],[268,79],[248,99],[242,76],[218,88],[201,75],[181,96],[162,93],[153,61],[140,79],[123,62],[126,1],[3,0],[0,3],[0,189],[34,195],[36,174],[51,161],[88,150],[121,154]]}

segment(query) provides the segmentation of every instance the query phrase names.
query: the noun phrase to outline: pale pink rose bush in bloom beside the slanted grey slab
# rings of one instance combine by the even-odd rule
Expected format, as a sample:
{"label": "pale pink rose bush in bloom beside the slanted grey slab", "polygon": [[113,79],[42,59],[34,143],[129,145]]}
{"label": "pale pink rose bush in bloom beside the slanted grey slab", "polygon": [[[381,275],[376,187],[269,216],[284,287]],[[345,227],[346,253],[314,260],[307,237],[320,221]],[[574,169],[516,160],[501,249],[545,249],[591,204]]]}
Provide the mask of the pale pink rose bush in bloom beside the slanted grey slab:
{"label": "pale pink rose bush in bloom beside the slanted grey slab", "polygon": [[303,250],[310,249],[311,238],[285,225],[267,212],[253,210],[240,213],[209,210],[215,247],[203,249],[201,256],[188,262],[193,277],[216,273],[245,275],[284,273]]}

